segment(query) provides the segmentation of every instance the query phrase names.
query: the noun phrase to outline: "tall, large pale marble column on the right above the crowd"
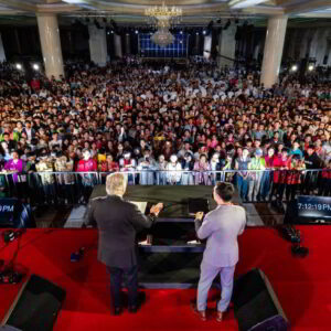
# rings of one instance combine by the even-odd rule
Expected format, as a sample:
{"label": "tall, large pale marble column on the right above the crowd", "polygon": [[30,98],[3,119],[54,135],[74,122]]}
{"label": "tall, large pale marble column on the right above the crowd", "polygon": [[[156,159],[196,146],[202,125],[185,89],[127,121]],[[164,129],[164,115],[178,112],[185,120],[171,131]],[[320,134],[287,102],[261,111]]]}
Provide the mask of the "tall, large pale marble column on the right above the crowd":
{"label": "tall, large pale marble column on the right above the crowd", "polygon": [[260,83],[267,88],[271,87],[278,79],[287,20],[287,15],[277,15],[268,20],[260,75]]}

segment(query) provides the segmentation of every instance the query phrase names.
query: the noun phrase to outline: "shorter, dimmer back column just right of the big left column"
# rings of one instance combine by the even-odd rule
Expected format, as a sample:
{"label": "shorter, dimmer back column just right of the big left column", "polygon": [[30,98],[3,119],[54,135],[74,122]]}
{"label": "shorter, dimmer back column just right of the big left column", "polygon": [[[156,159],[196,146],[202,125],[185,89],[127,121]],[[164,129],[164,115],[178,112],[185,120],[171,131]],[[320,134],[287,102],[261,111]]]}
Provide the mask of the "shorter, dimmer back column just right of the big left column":
{"label": "shorter, dimmer back column just right of the big left column", "polygon": [[96,25],[88,25],[89,33],[89,56],[90,61],[98,66],[107,64],[107,39],[106,30]]}

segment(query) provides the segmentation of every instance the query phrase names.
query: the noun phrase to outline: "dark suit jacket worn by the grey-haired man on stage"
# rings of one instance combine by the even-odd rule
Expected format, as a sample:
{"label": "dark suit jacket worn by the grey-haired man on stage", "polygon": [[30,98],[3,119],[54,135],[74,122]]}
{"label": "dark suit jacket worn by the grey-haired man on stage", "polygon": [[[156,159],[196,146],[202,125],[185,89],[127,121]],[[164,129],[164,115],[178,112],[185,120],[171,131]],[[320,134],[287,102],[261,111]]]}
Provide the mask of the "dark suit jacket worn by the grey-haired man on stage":
{"label": "dark suit jacket worn by the grey-haired man on stage", "polygon": [[130,268],[138,263],[136,234],[150,227],[154,216],[145,216],[135,204],[107,195],[90,202],[86,221],[98,227],[98,260],[109,267]]}

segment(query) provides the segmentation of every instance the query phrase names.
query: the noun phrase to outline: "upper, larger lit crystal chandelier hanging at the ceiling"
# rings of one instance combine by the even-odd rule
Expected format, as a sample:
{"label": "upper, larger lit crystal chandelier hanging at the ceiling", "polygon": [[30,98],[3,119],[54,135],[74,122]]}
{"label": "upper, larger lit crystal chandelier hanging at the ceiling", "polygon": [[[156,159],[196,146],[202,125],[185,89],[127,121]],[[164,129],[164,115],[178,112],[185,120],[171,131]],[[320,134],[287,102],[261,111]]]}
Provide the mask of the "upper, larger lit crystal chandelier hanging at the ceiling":
{"label": "upper, larger lit crystal chandelier hanging at the ceiling", "polygon": [[180,22],[182,9],[178,7],[168,7],[162,2],[162,6],[149,7],[145,10],[148,21],[156,28],[170,28]]}

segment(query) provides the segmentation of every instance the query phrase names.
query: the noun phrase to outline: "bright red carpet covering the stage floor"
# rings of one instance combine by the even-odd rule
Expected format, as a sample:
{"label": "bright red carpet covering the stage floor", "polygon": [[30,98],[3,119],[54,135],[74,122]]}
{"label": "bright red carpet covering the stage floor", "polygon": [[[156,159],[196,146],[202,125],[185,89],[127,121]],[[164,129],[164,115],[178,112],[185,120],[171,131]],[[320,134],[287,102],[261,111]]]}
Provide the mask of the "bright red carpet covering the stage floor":
{"label": "bright red carpet covering the stage floor", "polygon": [[[331,226],[301,226],[307,258],[293,258],[290,244],[271,228],[248,228],[241,237],[237,274],[258,267],[269,278],[293,331],[331,330]],[[97,233],[93,229],[30,229],[21,238],[17,264],[43,276],[67,291],[54,330],[237,330],[233,311],[220,324],[201,322],[189,302],[195,290],[147,290],[147,302],[138,314],[109,313],[109,286],[105,267],[96,260]],[[18,242],[1,248],[0,258],[12,257]],[[77,264],[73,250],[93,248]],[[0,319],[15,298],[18,286],[0,285]],[[217,293],[216,290],[212,295]],[[214,307],[215,302],[211,302]]]}

